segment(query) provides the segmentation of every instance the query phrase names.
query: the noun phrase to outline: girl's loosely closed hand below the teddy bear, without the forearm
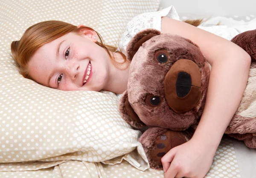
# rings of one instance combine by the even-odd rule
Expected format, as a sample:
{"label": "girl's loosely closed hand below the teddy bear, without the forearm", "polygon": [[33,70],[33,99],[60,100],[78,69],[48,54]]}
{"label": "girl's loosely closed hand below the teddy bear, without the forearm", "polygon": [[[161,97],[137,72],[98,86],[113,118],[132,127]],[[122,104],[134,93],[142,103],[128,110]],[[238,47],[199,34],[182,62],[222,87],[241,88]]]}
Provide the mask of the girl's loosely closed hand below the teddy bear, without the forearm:
{"label": "girl's loosely closed hand below the teddy bear, without the forearm", "polygon": [[198,142],[191,139],[163,156],[165,178],[203,178],[207,174],[216,150]]}

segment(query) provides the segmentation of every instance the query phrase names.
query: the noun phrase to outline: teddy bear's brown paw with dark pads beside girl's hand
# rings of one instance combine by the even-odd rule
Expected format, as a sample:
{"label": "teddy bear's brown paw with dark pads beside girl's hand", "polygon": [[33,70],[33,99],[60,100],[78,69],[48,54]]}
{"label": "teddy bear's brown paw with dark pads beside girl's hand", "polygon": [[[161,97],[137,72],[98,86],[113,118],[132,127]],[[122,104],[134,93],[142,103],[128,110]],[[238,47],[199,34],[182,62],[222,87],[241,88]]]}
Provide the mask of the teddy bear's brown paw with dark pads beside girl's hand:
{"label": "teddy bear's brown paw with dark pads beside girl's hand", "polygon": [[161,158],[172,148],[190,140],[193,132],[150,127],[140,137],[150,167],[163,169]]}

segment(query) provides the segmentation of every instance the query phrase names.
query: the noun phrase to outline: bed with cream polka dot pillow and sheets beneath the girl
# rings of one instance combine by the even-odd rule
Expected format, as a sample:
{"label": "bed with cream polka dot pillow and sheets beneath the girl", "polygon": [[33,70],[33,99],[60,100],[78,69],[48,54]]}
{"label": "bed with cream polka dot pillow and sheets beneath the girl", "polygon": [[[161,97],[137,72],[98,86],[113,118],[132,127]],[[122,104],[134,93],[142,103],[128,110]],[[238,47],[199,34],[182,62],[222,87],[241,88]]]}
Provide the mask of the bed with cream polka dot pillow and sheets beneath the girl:
{"label": "bed with cream polka dot pillow and sheets beneath the girl", "polygon": [[[17,70],[10,44],[35,23],[62,20],[90,26],[114,46],[132,17],[163,9],[166,2],[0,0],[1,178],[164,177],[163,171],[149,168],[138,142],[141,133],[122,120],[115,94],[57,91],[25,79]],[[210,17],[203,25],[219,20],[248,24],[253,18],[236,18],[240,17],[245,20]],[[181,20],[186,18],[197,17],[180,15]],[[206,178],[253,178],[255,160],[256,150],[224,136]]]}

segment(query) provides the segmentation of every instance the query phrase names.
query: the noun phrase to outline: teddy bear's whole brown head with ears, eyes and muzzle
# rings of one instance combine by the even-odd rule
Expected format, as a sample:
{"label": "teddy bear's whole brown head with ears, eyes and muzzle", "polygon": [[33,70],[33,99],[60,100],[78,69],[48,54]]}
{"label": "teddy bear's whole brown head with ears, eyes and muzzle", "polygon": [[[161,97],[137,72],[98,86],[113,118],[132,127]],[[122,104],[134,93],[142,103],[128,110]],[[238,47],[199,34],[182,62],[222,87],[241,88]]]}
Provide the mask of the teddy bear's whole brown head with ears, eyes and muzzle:
{"label": "teddy bear's whole brown head with ears, eyes and muzzle", "polygon": [[135,128],[184,130],[198,122],[209,81],[209,64],[195,43],[147,29],[131,39],[128,89],[119,109]]}

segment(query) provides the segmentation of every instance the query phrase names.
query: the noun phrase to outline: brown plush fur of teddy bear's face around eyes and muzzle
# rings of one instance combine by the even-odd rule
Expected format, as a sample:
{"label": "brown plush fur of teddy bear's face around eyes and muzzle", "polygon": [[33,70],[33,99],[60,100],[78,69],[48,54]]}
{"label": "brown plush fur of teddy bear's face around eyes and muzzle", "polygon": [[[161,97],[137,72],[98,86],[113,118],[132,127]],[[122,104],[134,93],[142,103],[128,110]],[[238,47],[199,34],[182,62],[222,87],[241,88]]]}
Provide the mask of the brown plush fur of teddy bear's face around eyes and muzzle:
{"label": "brown plush fur of teddy bear's face around eyes and muzzle", "polygon": [[[169,46],[169,48],[166,46]],[[159,65],[157,61],[152,60],[154,52],[157,49],[166,49],[169,51],[171,54],[169,64]],[[161,107],[152,108],[145,105],[143,101],[149,93],[164,96],[163,82],[165,75],[169,71],[170,66],[172,66],[172,63],[175,63],[175,61],[181,58],[195,60],[201,72],[204,74],[202,75],[201,86],[202,97],[196,107],[186,112],[186,114],[177,114],[172,109],[169,109],[165,100],[163,100]],[[196,123],[199,117],[198,112],[202,112],[201,106],[204,105],[206,87],[209,80],[209,65],[198,46],[180,36],[161,34],[143,43],[134,55],[134,59],[136,60],[132,61],[130,66],[127,96],[134,111],[140,116],[140,120],[147,126],[159,126],[172,130],[184,130]],[[154,82],[152,83],[151,81]],[[126,95],[123,97],[126,97]],[[172,119],[169,119],[170,117]],[[134,126],[133,123],[132,126]]]}

